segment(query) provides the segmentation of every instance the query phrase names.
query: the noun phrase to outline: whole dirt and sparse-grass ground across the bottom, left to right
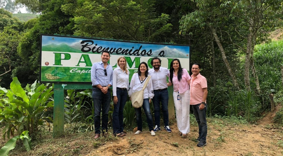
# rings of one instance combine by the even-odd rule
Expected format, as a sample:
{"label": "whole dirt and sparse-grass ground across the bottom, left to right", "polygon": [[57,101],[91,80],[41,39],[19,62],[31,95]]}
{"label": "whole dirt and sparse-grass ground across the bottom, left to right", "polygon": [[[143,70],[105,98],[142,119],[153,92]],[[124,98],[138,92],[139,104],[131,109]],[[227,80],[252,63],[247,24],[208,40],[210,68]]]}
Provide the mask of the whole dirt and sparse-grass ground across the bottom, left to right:
{"label": "whole dirt and sparse-grass ground across the bottom, left to right", "polygon": [[[277,107],[278,109],[278,107]],[[144,129],[139,135],[128,132],[122,138],[112,137],[94,140],[94,133],[66,134],[53,138],[52,132],[43,134],[40,140],[33,142],[33,149],[26,152],[17,145],[10,155],[81,155],[81,156],[283,156],[283,127],[274,128],[273,113],[257,124],[241,124],[231,119],[208,118],[207,146],[197,147],[197,124],[191,119],[191,132],[186,139],[178,135],[176,124],[170,126],[172,133],[164,129],[152,137]],[[7,141],[7,140],[6,140]],[[0,140],[2,147],[5,142]]]}

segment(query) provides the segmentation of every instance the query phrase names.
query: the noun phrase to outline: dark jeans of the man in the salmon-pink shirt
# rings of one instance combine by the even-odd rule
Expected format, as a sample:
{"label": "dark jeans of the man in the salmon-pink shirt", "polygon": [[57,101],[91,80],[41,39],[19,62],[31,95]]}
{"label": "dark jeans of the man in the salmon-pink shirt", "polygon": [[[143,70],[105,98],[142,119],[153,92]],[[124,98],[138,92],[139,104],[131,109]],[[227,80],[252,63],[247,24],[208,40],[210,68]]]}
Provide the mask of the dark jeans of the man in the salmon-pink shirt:
{"label": "dark jeans of the man in the salmon-pink shirt", "polygon": [[206,107],[204,107],[203,110],[199,109],[199,106],[201,104],[195,104],[193,106],[194,110],[194,116],[196,117],[197,124],[198,124],[198,137],[201,140],[206,141],[207,136],[207,123],[206,123],[206,110],[207,110],[207,104],[205,104]]}

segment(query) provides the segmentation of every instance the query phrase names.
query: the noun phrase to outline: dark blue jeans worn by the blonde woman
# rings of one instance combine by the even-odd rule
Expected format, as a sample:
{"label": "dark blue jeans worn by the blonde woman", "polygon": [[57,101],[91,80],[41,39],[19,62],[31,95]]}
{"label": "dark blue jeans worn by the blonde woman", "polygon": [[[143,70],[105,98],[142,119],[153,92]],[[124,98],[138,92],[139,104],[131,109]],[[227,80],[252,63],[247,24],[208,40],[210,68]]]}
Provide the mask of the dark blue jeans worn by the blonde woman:
{"label": "dark blue jeans worn by the blonde woman", "polygon": [[127,90],[122,90],[117,88],[117,104],[114,104],[114,111],[113,111],[113,134],[122,133],[124,131],[124,124],[123,124],[123,110],[128,98]]}

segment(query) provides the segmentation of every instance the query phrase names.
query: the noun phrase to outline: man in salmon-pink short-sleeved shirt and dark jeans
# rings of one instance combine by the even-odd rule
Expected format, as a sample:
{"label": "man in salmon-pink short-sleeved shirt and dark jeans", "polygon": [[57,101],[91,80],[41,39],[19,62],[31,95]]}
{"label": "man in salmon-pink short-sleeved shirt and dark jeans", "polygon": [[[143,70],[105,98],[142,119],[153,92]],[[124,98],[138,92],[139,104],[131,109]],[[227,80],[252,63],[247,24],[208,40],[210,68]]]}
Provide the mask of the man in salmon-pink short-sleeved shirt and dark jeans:
{"label": "man in salmon-pink short-sleeved shirt and dark jeans", "polygon": [[207,136],[207,122],[206,122],[206,98],[207,98],[207,80],[200,74],[201,65],[193,64],[191,71],[190,82],[190,105],[193,107],[194,116],[196,117],[198,124],[198,147],[204,147],[206,145]]}

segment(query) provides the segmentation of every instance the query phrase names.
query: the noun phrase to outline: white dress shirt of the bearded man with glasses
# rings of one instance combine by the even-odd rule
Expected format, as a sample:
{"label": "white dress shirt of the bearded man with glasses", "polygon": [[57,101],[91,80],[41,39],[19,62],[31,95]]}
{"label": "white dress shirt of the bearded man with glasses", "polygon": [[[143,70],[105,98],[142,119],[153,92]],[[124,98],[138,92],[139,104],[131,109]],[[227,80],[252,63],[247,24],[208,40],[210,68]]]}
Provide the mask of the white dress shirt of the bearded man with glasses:
{"label": "white dress shirt of the bearded man with glasses", "polygon": [[164,67],[159,67],[158,71],[155,71],[154,68],[148,70],[148,75],[151,76],[153,89],[164,89],[168,88],[167,86],[167,77],[169,77],[169,70]]}

